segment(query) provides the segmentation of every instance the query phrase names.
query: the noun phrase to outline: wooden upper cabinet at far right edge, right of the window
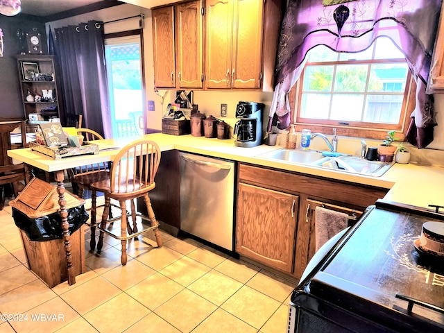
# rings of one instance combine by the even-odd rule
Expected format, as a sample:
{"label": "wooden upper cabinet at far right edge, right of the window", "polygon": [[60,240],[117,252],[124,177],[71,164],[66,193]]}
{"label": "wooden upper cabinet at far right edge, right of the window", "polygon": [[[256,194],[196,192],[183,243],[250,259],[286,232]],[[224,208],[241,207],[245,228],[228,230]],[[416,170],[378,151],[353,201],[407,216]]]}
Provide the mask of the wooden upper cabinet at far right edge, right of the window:
{"label": "wooden upper cabinet at far right edge, right of the window", "polygon": [[438,31],[436,31],[436,42],[426,92],[427,94],[444,93],[444,3],[441,6],[441,16]]}

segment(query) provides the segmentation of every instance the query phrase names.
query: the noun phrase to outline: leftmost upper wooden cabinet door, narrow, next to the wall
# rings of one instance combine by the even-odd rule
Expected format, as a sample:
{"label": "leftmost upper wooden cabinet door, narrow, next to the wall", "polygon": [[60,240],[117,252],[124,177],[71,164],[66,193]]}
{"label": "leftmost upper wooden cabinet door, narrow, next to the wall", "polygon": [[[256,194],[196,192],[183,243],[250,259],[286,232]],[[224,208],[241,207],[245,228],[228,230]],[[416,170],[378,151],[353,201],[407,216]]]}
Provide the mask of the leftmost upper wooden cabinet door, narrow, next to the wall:
{"label": "leftmost upper wooden cabinet door, narrow, next to the wall", "polygon": [[175,88],[174,8],[157,8],[152,11],[152,15],[154,85],[159,88]]}

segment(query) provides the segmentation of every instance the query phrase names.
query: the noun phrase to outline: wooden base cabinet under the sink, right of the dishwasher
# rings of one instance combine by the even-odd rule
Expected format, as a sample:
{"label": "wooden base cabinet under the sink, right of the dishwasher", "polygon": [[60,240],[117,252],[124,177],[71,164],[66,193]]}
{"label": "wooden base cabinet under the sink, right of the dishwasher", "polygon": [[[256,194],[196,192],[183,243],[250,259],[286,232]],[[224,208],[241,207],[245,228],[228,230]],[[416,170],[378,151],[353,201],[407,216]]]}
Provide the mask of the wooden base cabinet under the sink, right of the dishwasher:
{"label": "wooden base cabinet under the sink, right of the dishwasher", "polygon": [[238,173],[236,251],[296,278],[315,252],[317,206],[358,219],[388,191],[243,163]]}

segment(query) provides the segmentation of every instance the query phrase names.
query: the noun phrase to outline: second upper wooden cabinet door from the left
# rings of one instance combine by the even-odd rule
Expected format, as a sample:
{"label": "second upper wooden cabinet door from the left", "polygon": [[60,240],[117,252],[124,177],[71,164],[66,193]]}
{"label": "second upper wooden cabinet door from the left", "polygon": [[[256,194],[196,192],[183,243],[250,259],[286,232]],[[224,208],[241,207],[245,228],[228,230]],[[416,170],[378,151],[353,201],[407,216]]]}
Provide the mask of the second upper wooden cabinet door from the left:
{"label": "second upper wooden cabinet door from the left", "polygon": [[201,88],[202,3],[191,1],[176,6],[176,69],[180,88]]}

